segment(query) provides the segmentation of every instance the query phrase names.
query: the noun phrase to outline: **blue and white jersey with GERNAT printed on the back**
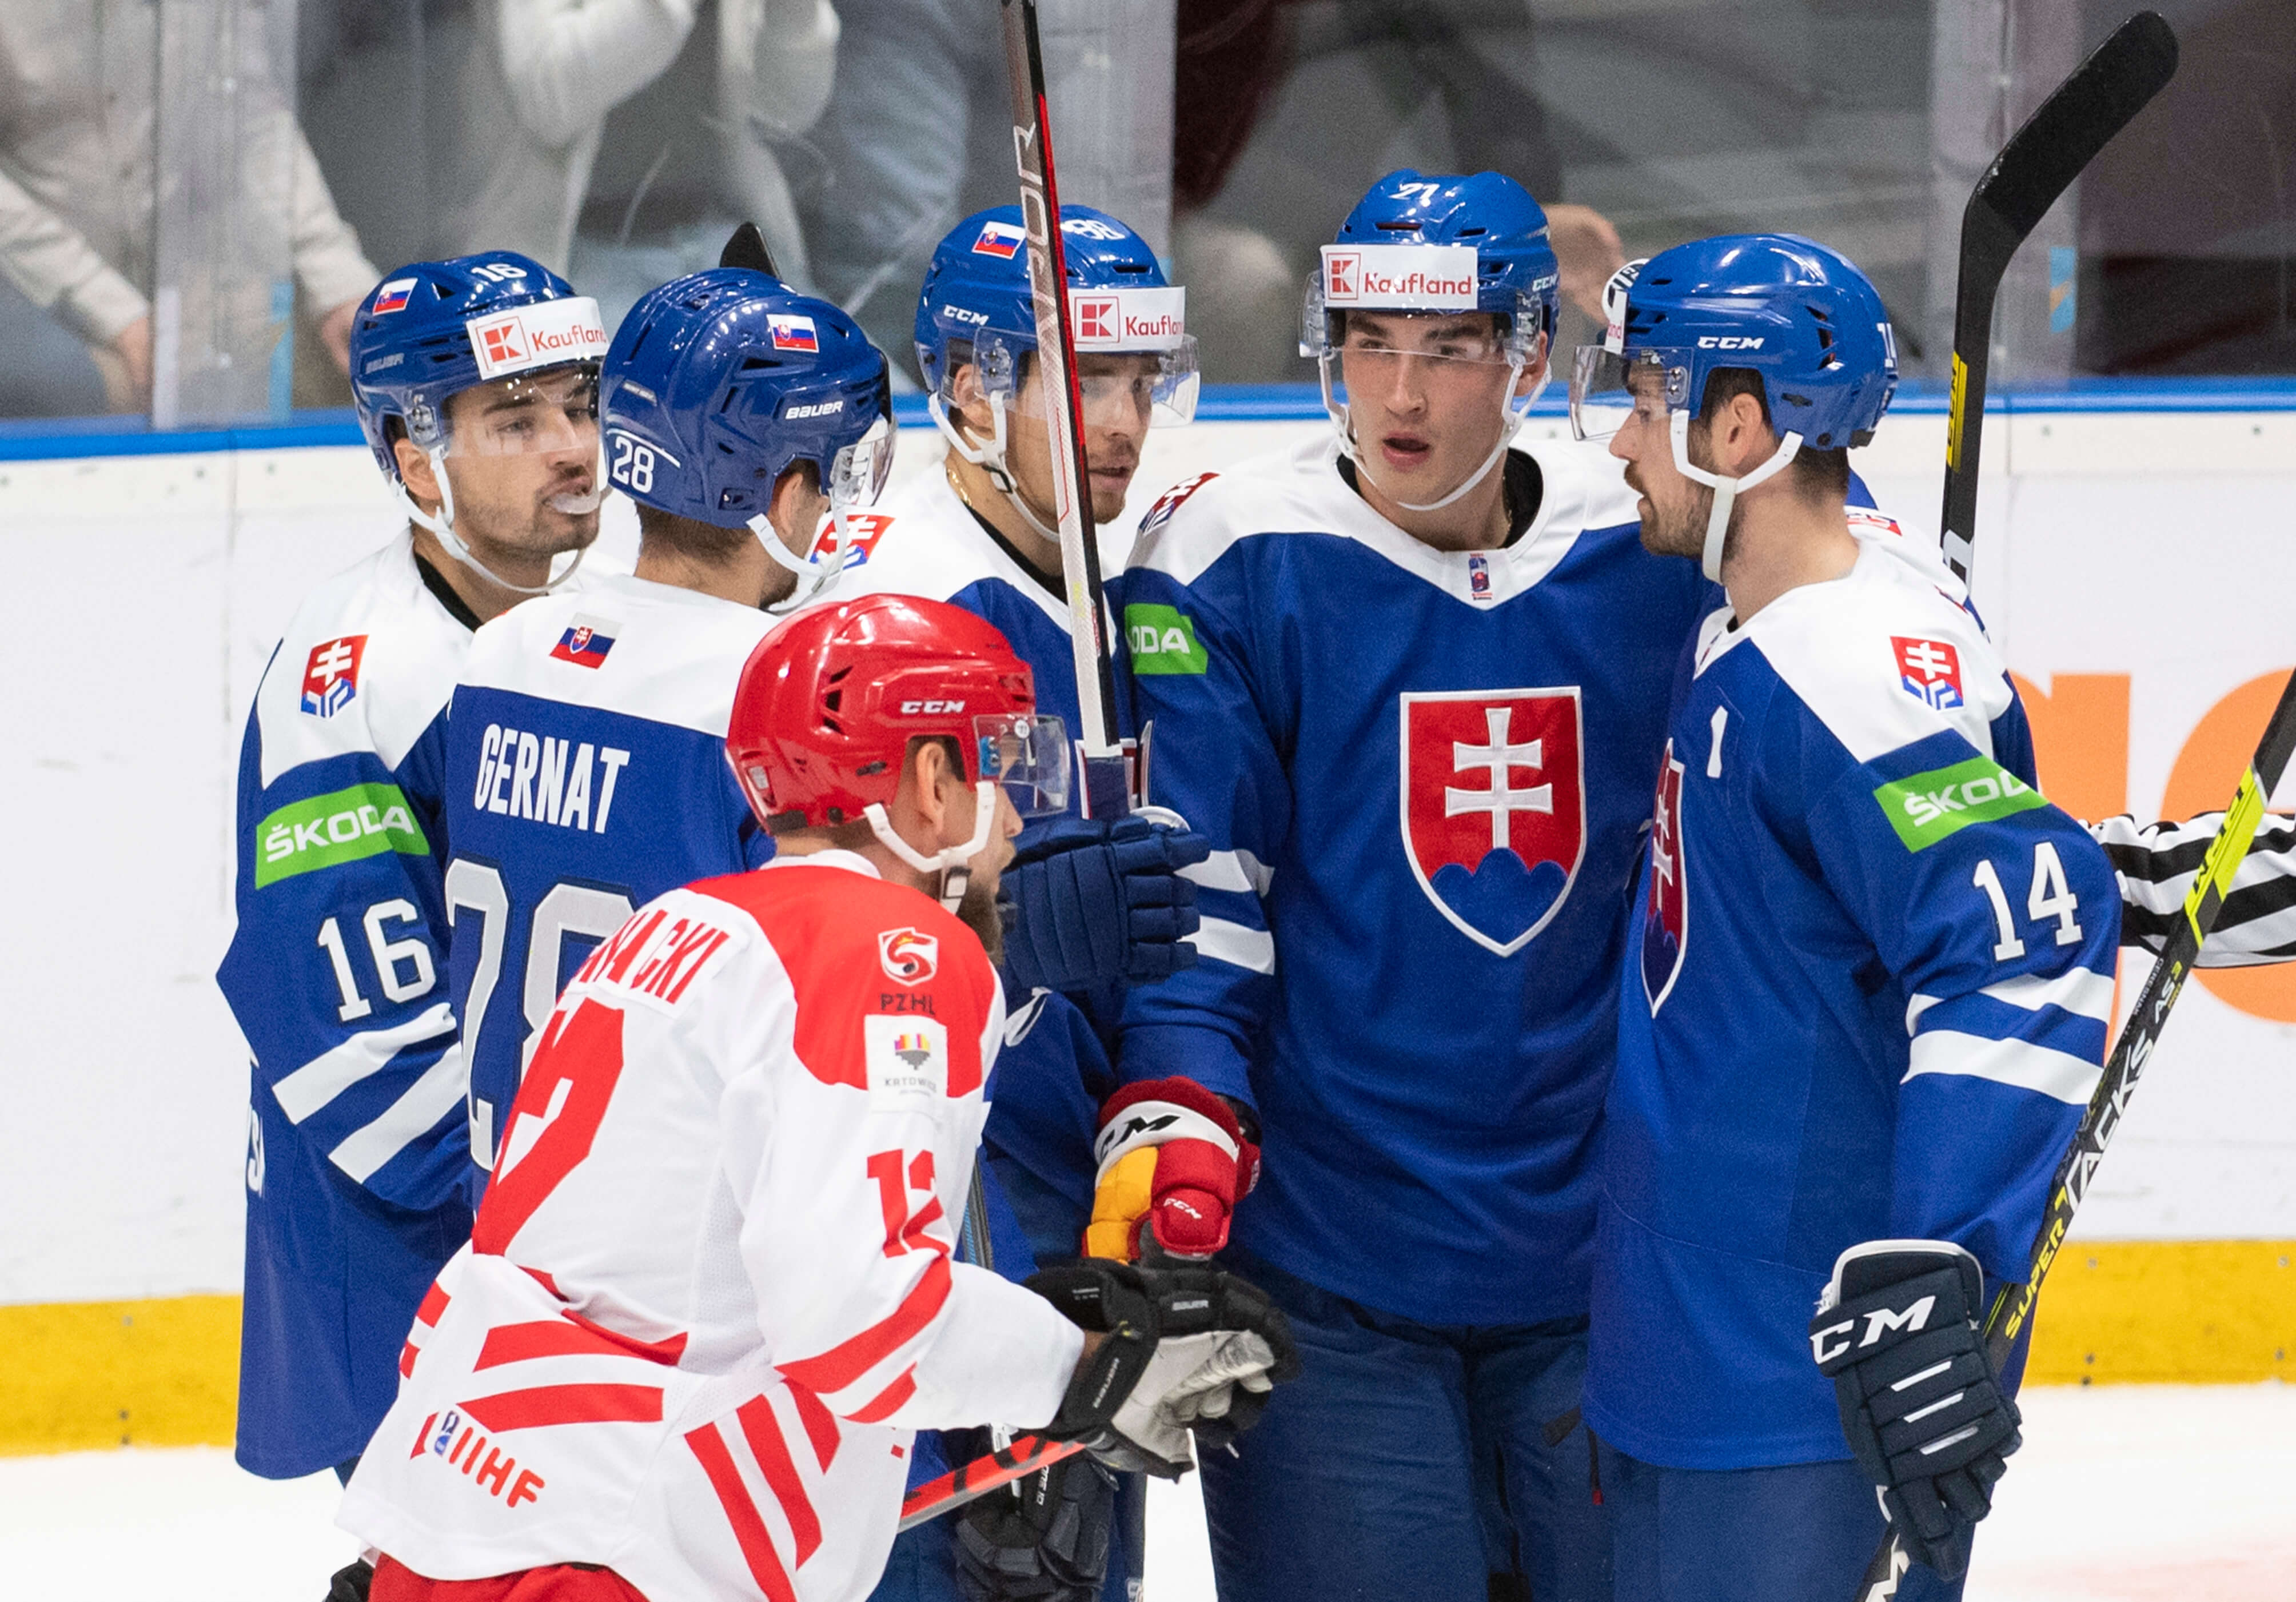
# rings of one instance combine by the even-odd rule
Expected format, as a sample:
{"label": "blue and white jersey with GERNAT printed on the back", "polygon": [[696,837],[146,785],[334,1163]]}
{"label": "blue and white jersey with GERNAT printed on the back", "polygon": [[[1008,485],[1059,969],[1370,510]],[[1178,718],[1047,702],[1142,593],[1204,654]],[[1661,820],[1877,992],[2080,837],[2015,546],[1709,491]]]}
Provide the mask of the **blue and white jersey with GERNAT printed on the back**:
{"label": "blue and white jersey with GERNAT printed on the back", "polygon": [[445,741],[445,902],[480,1182],[537,1031],[597,941],[666,891],[774,854],[726,767],[735,684],[771,627],[608,576],[478,631]]}

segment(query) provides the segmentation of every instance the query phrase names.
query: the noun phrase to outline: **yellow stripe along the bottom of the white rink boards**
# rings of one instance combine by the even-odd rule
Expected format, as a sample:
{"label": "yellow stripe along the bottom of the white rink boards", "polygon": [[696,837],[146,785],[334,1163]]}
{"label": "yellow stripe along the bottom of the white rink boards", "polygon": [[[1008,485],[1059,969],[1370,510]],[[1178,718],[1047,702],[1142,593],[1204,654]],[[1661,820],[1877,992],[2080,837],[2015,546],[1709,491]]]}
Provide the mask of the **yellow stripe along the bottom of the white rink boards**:
{"label": "yellow stripe along the bottom of the white rink boards", "polygon": [[[2296,1379],[2296,1242],[2073,1242],[2027,1384]],[[239,1297],[0,1306],[0,1455],[230,1446]]]}

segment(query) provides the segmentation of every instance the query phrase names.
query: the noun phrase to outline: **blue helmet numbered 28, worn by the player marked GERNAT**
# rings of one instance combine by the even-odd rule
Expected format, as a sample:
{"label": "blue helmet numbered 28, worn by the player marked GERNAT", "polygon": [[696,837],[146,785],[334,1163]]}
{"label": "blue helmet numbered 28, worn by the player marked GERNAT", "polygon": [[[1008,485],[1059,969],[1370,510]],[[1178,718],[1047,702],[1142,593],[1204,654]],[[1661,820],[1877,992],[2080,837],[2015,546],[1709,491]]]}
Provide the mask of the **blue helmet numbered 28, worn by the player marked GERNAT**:
{"label": "blue helmet numbered 28, worn by the player marked GERNAT", "polygon": [[[746,266],[712,266],[641,296],[613,335],[599,399],[615,489],[755,532],[801,581],[783,606],[838,576],[850,514],[877,500],[893,468],[884,351],[836,305]],[[829,496],[836,544],[799,558],[767,507],[776,480],[804,464]]]}

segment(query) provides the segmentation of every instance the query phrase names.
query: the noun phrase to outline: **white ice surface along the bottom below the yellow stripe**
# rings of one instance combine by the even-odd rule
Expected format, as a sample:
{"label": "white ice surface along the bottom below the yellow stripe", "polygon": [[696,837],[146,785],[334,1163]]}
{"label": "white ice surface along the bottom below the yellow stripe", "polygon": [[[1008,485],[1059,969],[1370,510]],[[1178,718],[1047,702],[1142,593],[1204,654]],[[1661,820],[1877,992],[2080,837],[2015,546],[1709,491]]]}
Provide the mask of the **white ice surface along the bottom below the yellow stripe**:
{"label": "white ice surface along the bottom below the yellow stripe", "polygon": [[[319,1602],[351,1558],[335,1494],[220,1448],[5,1457],[0,1595]],[[1150,1529],[1150,1602],[1210,1602],[1194,1480],[1155,1487]],[[1968,1602],[2170,1597],[2296,1597],[2296,1386],[2027,1391]]]}

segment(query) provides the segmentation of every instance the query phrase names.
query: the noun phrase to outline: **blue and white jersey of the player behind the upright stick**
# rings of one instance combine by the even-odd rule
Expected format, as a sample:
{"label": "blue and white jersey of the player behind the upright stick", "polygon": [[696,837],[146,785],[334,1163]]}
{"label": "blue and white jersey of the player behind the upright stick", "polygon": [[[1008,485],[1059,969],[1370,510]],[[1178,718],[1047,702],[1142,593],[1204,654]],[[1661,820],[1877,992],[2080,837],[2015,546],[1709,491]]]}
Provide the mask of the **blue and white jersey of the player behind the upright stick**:
{"label": "blue and white jersey of the player behind the upright stick", "polygon": [[[1125,530],[1130,521],[1100,532],[1102,571],[1123,565],[1132,544]],[[1058,716],[1070,739],[1077,737],[1068,601],[971,514],[944,471],[921,473],[886,496],[868,519],[856,558],[831,601],[921,594],[985,617],[1035,675],[1038,711]],[[1127,711],[1118,698],[1118,718]],[[1127,732],[1123,723],[1118,732]],[[1081,794],[1081,767],[1072,790]],[[1038,1258],[1072,1255],[1093,1212],[1093,1131],[1100,1102],[1116,1090],[1107,1035],[1118,1008],[1120,987],[1104,996],[1038,991],[1010,998],[983,1145]]]}

